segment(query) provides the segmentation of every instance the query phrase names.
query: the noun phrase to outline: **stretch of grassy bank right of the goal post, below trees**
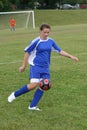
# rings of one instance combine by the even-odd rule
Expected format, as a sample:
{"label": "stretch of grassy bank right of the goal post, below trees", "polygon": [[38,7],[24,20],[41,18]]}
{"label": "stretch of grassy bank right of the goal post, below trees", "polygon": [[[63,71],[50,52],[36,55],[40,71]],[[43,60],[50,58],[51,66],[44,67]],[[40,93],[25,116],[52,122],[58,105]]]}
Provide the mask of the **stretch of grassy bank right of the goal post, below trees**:
{"label": "stretch of grassy bank right of the goal post, below trees", "polygon": [[36,10],[36,26],[43,22],[55,25],[86,24],[87,10]]}

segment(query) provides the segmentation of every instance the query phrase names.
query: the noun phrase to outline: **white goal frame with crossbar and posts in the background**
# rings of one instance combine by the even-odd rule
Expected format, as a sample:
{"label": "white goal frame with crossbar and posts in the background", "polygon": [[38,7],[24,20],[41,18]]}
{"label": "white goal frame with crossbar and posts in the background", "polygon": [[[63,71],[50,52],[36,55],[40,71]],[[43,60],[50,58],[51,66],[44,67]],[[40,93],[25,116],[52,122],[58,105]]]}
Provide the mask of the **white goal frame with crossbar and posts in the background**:
{"label": "white goal frame with crossbar and posts in the background", "polygon": [[26,19],[25,28],[28,28],[30,15],[32,15],[32,26],[33,26],[33,28],[35,29],[34,11],[0,12],[0,14],[19,14],[19,13],[27,13],[27,14],[28,14],[27,19]]}

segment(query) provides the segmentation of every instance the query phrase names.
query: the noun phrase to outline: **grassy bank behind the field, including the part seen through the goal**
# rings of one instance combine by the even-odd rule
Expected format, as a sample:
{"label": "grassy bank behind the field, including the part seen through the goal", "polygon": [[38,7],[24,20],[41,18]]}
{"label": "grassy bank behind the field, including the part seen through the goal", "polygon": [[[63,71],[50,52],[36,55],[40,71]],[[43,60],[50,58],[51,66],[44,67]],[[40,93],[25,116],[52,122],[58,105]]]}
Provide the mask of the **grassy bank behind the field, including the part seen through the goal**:
{"label": "grassy bank behind the field, including the part seen through the goal", "polygon": [[[35,10],[35,24],[46,22],[51,26],[86,24],[87,10]],[[5,14],[0,15],[0,30],[9,29],[9,20],[16,19],[16,28],[25,28],[28,14]],[[29,29],[32,28],[32,19],[30,15]]]}

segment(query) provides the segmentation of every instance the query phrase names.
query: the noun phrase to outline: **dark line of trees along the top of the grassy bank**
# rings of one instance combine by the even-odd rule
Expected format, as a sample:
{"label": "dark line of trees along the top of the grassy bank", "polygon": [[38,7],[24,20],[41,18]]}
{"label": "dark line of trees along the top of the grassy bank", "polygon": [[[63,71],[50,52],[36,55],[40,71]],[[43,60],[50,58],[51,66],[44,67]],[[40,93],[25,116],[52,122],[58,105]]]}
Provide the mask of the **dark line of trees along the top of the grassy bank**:
{"label": "dark line of trees along the top of the grassy bank", "polygon": [[56,8],[62,4],[87,4],[87,0],[0,0],[0,12],[34,8]]}

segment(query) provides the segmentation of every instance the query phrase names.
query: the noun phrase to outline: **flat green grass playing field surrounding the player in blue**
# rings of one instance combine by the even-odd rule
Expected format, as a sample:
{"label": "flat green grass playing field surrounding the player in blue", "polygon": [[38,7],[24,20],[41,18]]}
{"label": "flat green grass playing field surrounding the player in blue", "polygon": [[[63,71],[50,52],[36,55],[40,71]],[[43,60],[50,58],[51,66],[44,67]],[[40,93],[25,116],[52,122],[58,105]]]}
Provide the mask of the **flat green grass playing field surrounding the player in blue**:
{"label": "flat green grass playing field surrounding the player in blue", "polygon": [[[38,26],[39,17],[36,21]],[[66,25],[52,25],[50,36],[62,49],[77,56],[79,62],[52,53],[53,87],[45,92],[38,104],[42,109],[40,112],[28,110],[35,90],[11,104],[7,102],[12,91],[29,83],[29,68],[21,74],[18,69],[22,64],[24,48],[39,35],[38,28],[20,28],[13,33],[8,29],[0,30],[0,130],[87,130],[86,22],[76,20],[74,24],[68,21]]]}

